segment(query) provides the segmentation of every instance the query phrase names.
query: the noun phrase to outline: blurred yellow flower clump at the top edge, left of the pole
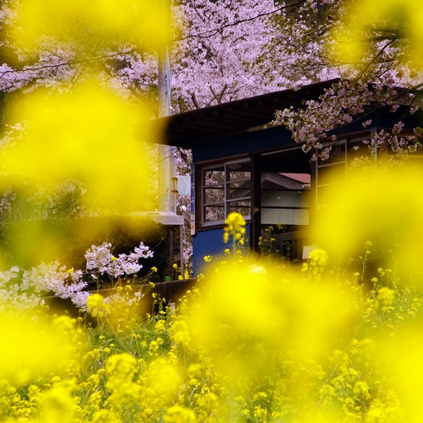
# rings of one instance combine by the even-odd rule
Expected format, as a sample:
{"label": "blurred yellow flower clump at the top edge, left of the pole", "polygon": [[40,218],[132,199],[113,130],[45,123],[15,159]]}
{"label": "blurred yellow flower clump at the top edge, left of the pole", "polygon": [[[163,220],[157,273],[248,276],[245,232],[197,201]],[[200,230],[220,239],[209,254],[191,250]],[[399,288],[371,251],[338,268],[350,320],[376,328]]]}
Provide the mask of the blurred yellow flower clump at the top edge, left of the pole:
{"label": "blurred yellow flower clump at the top edge, left of the pole", "polygon": [[26,50],[45,36],[90,49],[125,41],[151,46],[168,37],[161,2],[154,0],[23,0],[8,32]]}

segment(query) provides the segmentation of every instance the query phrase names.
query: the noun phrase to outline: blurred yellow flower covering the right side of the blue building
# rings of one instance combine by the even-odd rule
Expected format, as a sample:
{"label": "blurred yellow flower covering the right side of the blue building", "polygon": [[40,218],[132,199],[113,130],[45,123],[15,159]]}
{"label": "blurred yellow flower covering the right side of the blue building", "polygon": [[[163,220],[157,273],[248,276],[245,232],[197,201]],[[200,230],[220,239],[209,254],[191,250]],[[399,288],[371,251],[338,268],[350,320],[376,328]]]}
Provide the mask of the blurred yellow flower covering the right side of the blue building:
{"label": "blurred yellow flower covering the right side of the blue building", "polygon": [[[370,241],[379,266],[396,269],[403,282],[417,277],[423,270],[423,169],[408,162],[356,176],[326,197],[313,227],[315,243],[332,259],[350,259]],[[335,173],[329,180],[341,179]]]}

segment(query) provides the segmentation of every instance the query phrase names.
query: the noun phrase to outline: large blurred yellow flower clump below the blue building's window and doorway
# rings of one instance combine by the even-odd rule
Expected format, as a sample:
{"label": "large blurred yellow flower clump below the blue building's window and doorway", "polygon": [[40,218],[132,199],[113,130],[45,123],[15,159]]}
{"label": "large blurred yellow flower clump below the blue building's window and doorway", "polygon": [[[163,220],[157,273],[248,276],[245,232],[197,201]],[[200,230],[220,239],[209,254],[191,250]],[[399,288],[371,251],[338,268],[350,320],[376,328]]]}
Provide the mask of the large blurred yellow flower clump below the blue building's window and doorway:
{"label": "large blurred yellow flower clump below the blue building's window and doorway", "polygon": [[235,378],[272,372],[279,353],[319,356],[352,316],[343,290],[304,281],[300,269],[234,263],[206,280],[201,303],[188,312],[190,338]]}

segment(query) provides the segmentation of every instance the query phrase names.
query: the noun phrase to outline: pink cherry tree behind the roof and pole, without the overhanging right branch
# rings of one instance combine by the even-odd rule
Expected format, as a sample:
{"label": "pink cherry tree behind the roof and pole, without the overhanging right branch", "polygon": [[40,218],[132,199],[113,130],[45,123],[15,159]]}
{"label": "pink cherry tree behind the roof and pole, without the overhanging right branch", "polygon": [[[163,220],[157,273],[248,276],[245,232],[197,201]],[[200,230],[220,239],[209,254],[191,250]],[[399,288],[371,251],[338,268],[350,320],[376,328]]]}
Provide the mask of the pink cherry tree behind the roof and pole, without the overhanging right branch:
{"label": "pink cherry tree behind the roof and pole, without the overhanging right branch", "polygon": [[[13,6],[4,1],[3,31],[13,25]],[[327,0],[175,0],[173,2],[172,88],[176,112],[251,97],[333,76],[327,63],[315,69],[317,13],[324,22]],[[320,25],[320,24],[319,24]],[[321,28],[320,31],[324,31]],[[314,37],[313,37],[314,36]],[[305,42],[305,40],[307,41]],[[75,49],[45,39],[37,51],[13,49],[2,41],[4,64],[0,90],[37,85],[68,87],[86,68],[135,95],[157,95],[157,46],[140,50],[132,44],[107,48],[93,43]],[[308,66],[308,68],[307,68]]]}

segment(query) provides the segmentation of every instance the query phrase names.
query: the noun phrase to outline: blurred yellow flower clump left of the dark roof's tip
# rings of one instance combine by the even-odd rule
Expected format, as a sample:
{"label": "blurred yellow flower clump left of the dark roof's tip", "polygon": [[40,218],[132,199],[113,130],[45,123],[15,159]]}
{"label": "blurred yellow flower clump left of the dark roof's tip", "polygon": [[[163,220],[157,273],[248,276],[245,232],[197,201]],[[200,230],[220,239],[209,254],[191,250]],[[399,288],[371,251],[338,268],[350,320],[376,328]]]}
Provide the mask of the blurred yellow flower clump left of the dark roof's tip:
{"label": "blurred yellow flower clump left of the dark roof's tip", "polygon": [[49,191],[75,180],[90,207],[144,207],[143,142],[157,137],[159,128],[147,125],[142,104],[87,80],[66,94],[37,90],[17,97],[7,116],[8,123],[26,122],[27,133],[0,151],[3,183]]}

